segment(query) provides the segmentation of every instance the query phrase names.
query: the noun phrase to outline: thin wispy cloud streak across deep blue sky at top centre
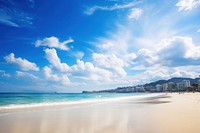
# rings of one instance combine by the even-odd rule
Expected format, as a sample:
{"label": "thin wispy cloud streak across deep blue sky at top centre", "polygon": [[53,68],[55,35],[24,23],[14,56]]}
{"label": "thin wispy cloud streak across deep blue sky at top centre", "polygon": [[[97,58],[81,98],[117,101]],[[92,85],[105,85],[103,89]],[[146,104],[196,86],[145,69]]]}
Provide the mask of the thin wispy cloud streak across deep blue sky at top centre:
{"label": "thin wispy cloud streak across deep blue sky at top centre", "polygon": [[127,9],[127,8],[134,7],[135,5],[137,5],[139,3],[140,3],[140,1],[130,2],[130,3],[127,3],[127,4],[122,4],[122,5],[115,4],[115,5],[110,6],[110,7],[109,6],[93,6],[93,7],[88,8],[85,11],[85,14],[92,15],[97,10],[113,11],[113,10]]}

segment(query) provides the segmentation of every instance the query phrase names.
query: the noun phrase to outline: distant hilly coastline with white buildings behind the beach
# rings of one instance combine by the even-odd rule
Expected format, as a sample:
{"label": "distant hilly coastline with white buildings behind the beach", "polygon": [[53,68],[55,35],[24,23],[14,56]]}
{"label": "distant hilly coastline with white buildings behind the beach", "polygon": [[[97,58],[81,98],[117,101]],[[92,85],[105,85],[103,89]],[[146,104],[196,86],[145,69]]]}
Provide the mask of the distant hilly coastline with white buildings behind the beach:
{"label": "distant hilly coastline with white buildings behind the beach", "polygon": [[82,91],[82,93],[138,93],[138,92],[200,92],[200,78],[174,77],[158,80],[144,85],[117,87],[99,91]]}

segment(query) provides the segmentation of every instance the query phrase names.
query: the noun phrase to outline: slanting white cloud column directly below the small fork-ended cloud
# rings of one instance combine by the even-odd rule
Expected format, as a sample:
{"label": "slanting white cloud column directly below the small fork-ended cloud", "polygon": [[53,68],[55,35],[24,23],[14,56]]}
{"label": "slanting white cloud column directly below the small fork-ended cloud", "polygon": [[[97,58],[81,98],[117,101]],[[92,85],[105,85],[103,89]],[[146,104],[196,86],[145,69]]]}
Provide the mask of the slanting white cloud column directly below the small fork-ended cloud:
{"label": "slanting white cloud column directly below the small fork-ended cloud", "polygon": [[45,57],[46,59],[53,65],[56,69],[62,72],[68,72],[69,66],[66,63],[61,63],[60,58],[57,55],[55,49],[45,49]]}

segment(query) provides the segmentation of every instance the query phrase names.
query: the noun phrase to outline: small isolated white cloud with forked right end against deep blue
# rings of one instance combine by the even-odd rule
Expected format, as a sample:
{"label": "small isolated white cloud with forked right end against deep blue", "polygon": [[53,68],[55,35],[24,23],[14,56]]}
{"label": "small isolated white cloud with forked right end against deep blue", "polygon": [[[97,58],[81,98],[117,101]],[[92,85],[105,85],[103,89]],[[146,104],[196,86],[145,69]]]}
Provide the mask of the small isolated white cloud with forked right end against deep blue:
{"label": "small isolated white cloud with forked right end against deep blue", "polygon": [[68,39],[64,42],[60,42],[59,39],[57,37],[47,37],[44,38],[43,40],[37,40],[35,42],[35,46],[39,47],[39,46],[47,46],[50,48],[57,48],[57,49],[61,49],[61,50],[69,50],[69,47],[67,46],[67,44],[74,42],[74,40],[72,39]]}

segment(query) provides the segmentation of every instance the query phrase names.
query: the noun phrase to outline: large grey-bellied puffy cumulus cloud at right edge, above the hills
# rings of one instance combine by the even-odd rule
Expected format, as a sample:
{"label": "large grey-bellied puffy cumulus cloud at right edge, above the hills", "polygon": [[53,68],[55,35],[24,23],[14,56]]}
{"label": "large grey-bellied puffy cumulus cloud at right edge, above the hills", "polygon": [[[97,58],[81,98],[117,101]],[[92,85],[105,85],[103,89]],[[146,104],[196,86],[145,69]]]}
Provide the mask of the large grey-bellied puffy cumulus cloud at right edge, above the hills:
{"label": "large grey-bellied puffy cumulus cloud at right edge, above the hills", "polygon": [[195,45],[190,37],[175,36],[161,41],[157,50],[140,49],[136,61],[144,66],[184,66],[199,65],[200,46]]}

